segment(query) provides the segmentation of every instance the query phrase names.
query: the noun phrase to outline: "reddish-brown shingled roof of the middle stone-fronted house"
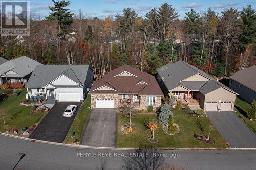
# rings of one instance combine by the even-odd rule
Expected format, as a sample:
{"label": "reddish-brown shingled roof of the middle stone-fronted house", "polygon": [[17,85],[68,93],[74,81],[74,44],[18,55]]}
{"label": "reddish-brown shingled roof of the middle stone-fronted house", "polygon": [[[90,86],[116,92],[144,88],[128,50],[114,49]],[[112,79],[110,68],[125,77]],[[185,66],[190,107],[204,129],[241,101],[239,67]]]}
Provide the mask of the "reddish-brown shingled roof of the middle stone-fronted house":
{"label": "reddish-brown shingled roof of the middle stone-fronted house", "polygon": [[[116,76],[124,71],[127,71],[137,77]],[[147,84],[137,84],[141,81]],[[102,86],[107,86],[114,90],[95,90]],[[154,76],[147,74],[146,72],[142,72],[129,65],[120,66],[104,75],[100,80],[95,81],[90,90],[90,93],[135,93],[139,95],[163,96],[162,90],[160,89]]]}

